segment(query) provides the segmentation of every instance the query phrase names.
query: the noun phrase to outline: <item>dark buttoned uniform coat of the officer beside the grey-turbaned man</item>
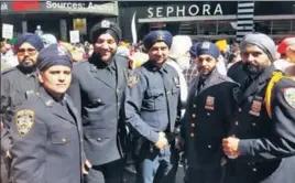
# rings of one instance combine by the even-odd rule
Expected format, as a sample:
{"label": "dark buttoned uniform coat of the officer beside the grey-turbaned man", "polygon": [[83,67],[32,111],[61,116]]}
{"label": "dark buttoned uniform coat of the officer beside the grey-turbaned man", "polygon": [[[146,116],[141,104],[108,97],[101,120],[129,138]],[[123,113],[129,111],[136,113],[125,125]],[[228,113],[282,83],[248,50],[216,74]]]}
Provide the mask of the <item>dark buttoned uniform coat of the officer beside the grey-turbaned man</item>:
{"label": "dark buttoned uniform coat of the officer beside the grey-turbaned man", "polygon": [[190,83],[182,134],[190,168],[217,169],[223,157],[221,141],[236,108],[233,92],[239,85],[218,71],[200,85],[198,75]]}

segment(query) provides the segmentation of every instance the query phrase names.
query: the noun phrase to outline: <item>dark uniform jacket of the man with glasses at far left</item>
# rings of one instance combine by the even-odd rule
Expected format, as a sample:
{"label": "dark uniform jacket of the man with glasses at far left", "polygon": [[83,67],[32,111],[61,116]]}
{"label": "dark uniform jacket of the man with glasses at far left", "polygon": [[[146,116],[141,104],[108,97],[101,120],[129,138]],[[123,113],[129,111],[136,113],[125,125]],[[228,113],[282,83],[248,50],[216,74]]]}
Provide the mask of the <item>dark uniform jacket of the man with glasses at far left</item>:
{"label": "dark uniform jacket of the man with glasses at far left", "polygon": [[[1,73],[1,97],[11,99],[11,106],[22,104],[26,98],[23,97],[25,92],[33,92],[39,88],[36,73],[25,74],[19,66],[9,68]],[[7,116],[7,115],[6,115]],[[10,128],[10,121],[6,128]],[[11,146],[9,132],[1,139],[1,150],[8,151]]]}

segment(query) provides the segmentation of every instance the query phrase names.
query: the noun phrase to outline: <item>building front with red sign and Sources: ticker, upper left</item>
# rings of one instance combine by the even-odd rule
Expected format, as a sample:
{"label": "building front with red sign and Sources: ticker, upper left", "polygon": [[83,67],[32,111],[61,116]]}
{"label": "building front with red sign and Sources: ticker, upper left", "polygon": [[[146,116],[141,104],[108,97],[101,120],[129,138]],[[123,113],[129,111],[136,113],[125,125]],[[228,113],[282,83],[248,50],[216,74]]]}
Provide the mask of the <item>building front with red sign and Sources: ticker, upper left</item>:
{"label": "building front with red sign and Sources: ticker, upper left", "polygon": [[35,32],[69,40],[69,31],[79,30],[80,40],[89,40],[90,28],[102,19],[117,22],[117,1],[1,1],[1,23],[13,25],[13,34]]}

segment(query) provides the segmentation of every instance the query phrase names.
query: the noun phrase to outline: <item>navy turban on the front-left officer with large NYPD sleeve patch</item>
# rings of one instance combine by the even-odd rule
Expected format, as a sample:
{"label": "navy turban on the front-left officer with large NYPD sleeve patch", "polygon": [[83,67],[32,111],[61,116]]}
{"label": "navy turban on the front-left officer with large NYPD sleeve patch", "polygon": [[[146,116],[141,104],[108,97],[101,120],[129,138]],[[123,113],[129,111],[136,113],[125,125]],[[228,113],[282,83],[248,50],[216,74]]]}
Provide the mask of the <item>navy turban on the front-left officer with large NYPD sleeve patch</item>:
{"label": "navy turban on the front-left officer with large NYPD sleeve patch", "polygon": [[52,44],[43,49],[37,56],[36,66],[39,71],[45,71],[54,65],[73,67],[70,53],[62,45]]}

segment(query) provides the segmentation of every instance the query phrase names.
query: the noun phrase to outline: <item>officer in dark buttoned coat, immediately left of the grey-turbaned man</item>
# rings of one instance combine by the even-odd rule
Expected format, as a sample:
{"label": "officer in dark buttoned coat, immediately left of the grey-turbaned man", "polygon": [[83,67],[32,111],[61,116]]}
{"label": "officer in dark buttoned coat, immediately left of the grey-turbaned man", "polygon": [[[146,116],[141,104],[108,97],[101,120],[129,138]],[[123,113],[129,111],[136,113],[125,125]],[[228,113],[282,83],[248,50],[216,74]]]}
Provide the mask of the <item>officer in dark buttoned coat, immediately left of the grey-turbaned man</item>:
{"label": "officer in dark buttoned coat, immediately left of the grey-turbaned man", "polygon": [[[187,182],[220,183],[222,138],[227,136],[236,108],[233,92],[239,87],[216,69],[220,55],[210,42],[197,43],[194,52],[199,75],[190,83],[182,122],[187,155]],[[227,103],[225,103],[225,100]]]}

